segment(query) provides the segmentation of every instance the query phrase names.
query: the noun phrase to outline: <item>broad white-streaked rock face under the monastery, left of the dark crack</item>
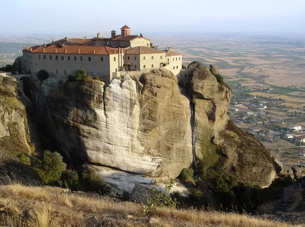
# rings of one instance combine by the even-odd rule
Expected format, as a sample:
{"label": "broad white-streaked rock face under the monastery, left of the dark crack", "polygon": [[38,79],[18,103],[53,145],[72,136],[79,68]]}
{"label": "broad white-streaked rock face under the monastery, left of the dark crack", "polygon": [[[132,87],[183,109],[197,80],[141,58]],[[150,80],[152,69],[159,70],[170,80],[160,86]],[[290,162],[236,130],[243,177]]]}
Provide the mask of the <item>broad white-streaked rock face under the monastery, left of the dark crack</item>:
{"label": "broad white-streaked rock face under the monastery, left of the dark crack", "polygon": [[188,99],[168,70],[109,85],[67,83],[53,92],[47,124],[68,156],[151,177],[177,177],[192,162]]}

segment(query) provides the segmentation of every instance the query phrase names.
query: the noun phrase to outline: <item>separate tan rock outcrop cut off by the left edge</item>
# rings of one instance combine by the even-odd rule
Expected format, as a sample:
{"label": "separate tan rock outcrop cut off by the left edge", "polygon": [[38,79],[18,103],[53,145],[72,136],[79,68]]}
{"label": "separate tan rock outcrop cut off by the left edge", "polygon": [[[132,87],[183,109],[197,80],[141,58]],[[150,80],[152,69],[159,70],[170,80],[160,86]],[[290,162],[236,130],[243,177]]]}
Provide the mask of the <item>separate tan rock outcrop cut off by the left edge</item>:
{"label": "separate tan rock outcrop cut off by the left edge", "polygon": [[24,105],[16,98],[18,83],[10,77],[0,77],[0,146],[14,154],[34,152],[26,125]]}

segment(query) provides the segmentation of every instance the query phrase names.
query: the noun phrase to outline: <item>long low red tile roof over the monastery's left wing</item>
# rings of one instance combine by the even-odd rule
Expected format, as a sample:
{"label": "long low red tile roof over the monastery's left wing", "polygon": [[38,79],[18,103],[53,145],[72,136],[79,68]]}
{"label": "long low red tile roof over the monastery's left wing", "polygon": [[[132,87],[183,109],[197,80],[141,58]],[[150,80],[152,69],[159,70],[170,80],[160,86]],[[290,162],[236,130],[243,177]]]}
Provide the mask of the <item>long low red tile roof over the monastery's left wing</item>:
{"label": "long low red tile roof over the monastery's left wing", "polygon": [[[43,52],[43,49],[45,49],[45,52]],[[56,52],[55,52],[56,49]],[[65,53],[65,49],[67,52]],[[79,53],[78,53],[79,49]],[[95,50],[95,53],[94,53]],[[25,52],[31,52],[29,50],[23,50]],[[115,51],[115,53],[114,53]],[[123,52],[125,53],[126,50],[123,49]],[[67,46],[67,47],[60,47],[59,45],[51,45],[49,47],[44,46],[34,46],[32,47],[32,53],[41,53],[41,54],[97,54],[97,55],[111,55],[111,54],[117,54],[118,49],[117,48],[111,48],[106,46]]]}

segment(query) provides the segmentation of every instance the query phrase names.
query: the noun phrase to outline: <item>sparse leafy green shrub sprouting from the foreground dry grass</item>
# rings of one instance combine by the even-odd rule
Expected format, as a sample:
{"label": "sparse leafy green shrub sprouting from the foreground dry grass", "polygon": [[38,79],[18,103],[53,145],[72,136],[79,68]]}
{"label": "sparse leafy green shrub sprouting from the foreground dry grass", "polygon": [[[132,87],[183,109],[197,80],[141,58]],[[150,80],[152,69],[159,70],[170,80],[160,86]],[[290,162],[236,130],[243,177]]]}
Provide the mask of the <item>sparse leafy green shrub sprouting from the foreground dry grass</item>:
{"label": "sparse leafy green shrub sprouting from the foreground dry grass", "polygon": [[173,198],[169,191],[174,185],[174,180],[170,179],[164,182],[165,184],[165,192],[158,191],[156,186],[151,187],[151,193],[153,193],[153,197],[146,201],[146,204],[142,206],[144,213],[150,212],[157,207],[171,207],[175,208],[177,206],[176,198]]}

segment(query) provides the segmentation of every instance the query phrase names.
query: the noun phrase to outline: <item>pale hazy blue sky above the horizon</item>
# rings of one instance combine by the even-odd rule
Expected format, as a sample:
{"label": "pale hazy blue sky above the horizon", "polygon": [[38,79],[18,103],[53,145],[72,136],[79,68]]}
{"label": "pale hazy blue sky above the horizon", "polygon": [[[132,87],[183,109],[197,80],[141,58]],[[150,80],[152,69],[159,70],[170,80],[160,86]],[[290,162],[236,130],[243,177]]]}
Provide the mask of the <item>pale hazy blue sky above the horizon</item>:
{"label": "pale hazy blue sky above the horizon", "polygon": [[143,35],[305,35],[305,0],[14,0],[1,8],[0,34],[109,37],[127,24]]}

